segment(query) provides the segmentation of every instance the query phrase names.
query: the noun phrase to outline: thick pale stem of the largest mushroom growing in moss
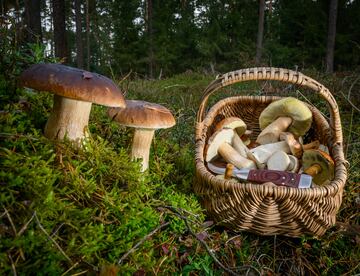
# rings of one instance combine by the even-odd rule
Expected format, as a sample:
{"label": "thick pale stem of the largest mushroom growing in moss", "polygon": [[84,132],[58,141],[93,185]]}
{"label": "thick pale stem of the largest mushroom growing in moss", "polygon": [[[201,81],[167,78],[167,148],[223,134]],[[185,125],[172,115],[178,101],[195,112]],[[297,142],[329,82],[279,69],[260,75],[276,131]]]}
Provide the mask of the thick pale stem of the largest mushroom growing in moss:
{"label": "thick pale stem of the largest mushroom growing in moss", "polygon": [[45,137],[60,140],[67,137],[80,143],[88,136],[91,104],[54,95],[54,106],[45,126]]}

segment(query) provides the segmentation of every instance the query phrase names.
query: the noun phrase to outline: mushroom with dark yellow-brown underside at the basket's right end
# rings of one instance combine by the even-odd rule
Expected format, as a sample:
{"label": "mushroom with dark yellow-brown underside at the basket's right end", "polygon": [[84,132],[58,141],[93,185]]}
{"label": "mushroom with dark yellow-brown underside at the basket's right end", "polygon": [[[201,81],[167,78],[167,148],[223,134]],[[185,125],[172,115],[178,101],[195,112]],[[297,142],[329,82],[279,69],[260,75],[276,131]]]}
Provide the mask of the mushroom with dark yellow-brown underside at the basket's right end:
{"label": "mushroom with dark yellow-brown underside at the basket's right end", "polygon": [[313,182],[317,185],[324,185],[334,178],[334,161],[324,151],[304,151],[302,163],[304,173],[311,175]]}

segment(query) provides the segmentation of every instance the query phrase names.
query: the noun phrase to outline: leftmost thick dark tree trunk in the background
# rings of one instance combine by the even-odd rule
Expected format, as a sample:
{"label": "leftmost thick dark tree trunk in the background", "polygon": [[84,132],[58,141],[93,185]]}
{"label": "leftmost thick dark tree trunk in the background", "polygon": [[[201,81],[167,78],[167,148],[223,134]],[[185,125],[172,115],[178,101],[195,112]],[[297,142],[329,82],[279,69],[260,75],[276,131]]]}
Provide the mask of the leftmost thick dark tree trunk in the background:
{"label": "leftmost thick dark tree trunk in the background", "polygon": [[30,43],[42,42],[40,0],[25,0],[26,39]]}

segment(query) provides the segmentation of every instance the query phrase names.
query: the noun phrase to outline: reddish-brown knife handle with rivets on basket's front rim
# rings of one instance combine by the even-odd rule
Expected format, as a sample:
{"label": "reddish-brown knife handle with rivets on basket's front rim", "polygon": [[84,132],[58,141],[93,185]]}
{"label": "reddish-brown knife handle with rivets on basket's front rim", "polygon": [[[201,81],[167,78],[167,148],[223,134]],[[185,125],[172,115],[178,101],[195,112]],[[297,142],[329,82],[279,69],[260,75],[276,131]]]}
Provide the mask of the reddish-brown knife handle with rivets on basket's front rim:
{"label": "reddish-brown knife handle with rivets on basket's front rim", "polygon": [[301,174],[276,170],[250,170],[249,181],[257,183],[272,182],[278,186],[299,187]]}

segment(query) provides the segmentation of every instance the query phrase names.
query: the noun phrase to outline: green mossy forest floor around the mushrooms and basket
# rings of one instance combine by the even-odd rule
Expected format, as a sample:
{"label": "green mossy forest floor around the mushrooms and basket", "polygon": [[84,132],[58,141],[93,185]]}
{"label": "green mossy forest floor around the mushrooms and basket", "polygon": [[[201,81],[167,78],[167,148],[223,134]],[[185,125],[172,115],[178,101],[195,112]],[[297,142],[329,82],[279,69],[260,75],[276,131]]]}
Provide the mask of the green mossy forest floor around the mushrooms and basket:
{"label": "green mossy forest floor around the mushrooms and basket", "polygon": [[[177,124],[157,131],[150,167],[128,157],[132,131],[94,105],[86,148],[49,141],[52,97],[19,89],[0,101],[0,274],[9,275],[356,275],[360,273],[360,80],[305,72],[340,108],[349,177],[335,226],[320,238],[259,236],[214,223],[192,186],[195,118],[213,76],[117,81],[126,99],[169,108]],[[7,91],[1,91],[4,96]],[[293,95],[325,117],[310,91],[270,82],[230,86],[229,95]]]}

